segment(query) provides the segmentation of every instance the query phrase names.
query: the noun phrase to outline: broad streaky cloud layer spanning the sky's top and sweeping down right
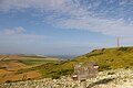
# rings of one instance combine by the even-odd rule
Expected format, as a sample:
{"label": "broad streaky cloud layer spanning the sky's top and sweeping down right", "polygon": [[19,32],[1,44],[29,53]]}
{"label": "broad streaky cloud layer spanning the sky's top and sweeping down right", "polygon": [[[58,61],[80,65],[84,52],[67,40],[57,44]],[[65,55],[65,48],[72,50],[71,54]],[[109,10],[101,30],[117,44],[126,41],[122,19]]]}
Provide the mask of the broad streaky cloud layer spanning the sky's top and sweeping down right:
{"label": "broad streaky cloud layer spanning the sky's top and sweeping down right", "polygon": [[0,2],[0,11],[28,9],[34,9],[43,14],[44,22],[55,28],[89,30],[113,36],[133,35],[132,0],[1,0]]}

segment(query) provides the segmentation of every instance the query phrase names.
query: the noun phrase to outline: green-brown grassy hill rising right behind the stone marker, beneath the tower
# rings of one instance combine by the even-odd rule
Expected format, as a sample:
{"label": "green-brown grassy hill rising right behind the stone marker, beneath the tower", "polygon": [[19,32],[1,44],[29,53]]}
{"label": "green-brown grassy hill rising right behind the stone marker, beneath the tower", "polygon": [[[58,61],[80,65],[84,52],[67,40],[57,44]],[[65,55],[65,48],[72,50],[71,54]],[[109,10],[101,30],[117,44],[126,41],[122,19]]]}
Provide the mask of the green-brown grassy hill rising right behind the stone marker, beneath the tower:
{"label": "green-brown grassy hill rising right behind the stone marker, beneath the tower", "polygon": [[29,69],[19,70],[18,73],[21,74],[39,69],[43,77],[59,78],[63,75],[70,75],[73,72],[73,66],[82,62],[98,63],[100,65],[99,70],[131,68],[133,67],[133,47],[93,50],[88,54],[72,59],[48,63]]}

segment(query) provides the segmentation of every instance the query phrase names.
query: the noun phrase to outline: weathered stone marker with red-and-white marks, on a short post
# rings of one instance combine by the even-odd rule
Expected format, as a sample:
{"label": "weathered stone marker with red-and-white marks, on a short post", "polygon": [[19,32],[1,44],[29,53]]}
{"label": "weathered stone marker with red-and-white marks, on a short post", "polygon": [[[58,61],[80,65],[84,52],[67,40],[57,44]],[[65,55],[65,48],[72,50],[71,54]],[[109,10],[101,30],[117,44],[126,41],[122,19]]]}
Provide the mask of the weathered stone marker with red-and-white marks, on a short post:
{"label": "weathered stone marker with red-and-white marks, on a short post", "polygon": [[96,77],[99,65],[92,62],[80,63],[74,66],[74,73],[72,74],[73,80],[80,80],[81,88],[86,87],[85,80]]}

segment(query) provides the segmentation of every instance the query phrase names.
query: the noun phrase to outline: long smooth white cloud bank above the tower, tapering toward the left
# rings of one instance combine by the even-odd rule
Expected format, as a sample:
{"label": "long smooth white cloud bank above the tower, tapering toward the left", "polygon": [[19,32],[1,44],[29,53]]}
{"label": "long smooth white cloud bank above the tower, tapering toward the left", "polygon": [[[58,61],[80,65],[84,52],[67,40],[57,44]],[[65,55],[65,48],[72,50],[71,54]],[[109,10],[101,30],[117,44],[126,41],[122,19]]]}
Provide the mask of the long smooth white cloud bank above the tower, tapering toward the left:
{"label": "long smooth white cloud bank above the tower, tapering toward the left", "polygon": [[90,30],[114,36],[133,35],[133,24],[125,24],[121,20],[112,21],[112,20],[88,16],[84,19],[74,19],[74,20],[73,19],[68,19],[62,21],[54,20],[53,24],[55,26],[60,26],[64,29]]}

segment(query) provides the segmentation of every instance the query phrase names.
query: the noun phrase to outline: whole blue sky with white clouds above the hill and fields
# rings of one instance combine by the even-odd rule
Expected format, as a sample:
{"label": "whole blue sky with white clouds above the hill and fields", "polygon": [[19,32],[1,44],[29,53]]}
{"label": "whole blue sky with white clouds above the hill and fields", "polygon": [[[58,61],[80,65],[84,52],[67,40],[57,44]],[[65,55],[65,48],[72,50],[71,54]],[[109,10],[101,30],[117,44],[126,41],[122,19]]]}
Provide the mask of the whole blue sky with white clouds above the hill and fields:
{"label": "whole blue sky with white clouds above the hill and fields", "polygon": [[0,53],[82,55],[133,45],[133,0],[0,0]]}

